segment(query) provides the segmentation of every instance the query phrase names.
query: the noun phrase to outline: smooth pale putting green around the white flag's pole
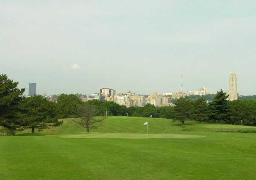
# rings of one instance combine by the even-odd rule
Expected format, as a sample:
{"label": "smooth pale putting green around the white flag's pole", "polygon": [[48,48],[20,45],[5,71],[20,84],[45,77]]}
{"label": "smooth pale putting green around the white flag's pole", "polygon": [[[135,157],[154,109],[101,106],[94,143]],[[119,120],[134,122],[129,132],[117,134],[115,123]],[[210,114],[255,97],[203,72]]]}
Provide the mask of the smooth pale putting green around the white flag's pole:
{"label": "smooth pale putting green around the white flag's pole", "polygon": [[147,139],[147,138],[200,138],[205,136],[189,134],[128,134],[128,133],[89,133],[62,135],[64,138],[120,138],[120,139]]}

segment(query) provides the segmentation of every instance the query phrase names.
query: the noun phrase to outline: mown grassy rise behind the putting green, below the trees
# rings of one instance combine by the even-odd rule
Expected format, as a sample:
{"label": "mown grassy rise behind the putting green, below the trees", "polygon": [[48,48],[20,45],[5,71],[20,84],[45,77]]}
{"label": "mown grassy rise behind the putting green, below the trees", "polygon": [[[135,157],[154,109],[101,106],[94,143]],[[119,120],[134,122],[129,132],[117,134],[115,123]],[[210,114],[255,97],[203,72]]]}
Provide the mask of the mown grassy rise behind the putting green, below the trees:
{"label": "mown grassy rise behind the putting green, below the trees", "polygon": [[[149,134],[156,133],[179,133],[179,132],[213,132],[213,131],[238,131],[238,130],[254,130],[256,127],[228,125],[228,124],[212,124],[198,123],[188,121],[184,125],[179,122],[173,122],[170,119],[162,118],[145,118],[145,117],[108,117],[103,123],[97,123],[96,128],[90,132],[100,133],[145,133],[148,122]],[[24,131],[30,133],[31,130]],[[24,133],[22,132],[22,133]],[[38,131],[36,131],[38,132]],[[63,124],[58,127],[50,127],[40,133],[43,134],[66,134],[66,133],[83,133],[86,128],[81,125],[81,120],[77,118],[64,119]]]}

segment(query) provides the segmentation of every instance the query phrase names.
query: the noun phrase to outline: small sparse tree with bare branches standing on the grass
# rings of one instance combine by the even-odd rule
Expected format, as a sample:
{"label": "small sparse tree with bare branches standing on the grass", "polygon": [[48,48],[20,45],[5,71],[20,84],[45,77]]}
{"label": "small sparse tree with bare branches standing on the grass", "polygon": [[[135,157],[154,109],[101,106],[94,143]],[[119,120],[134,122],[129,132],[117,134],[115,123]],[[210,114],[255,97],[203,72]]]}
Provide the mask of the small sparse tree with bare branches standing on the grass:
{"label": "small sparse tree with bare branches standing on the grass", "polygon": [[75,114],[78,118],[81,118],[81,125],[86,127],[88,133],[90,129],[95,128],[95,123],[101,123],[105,119],[105,117],[95,117],[98,115],[98,110],[95,106],[89,104],[77,106]]}

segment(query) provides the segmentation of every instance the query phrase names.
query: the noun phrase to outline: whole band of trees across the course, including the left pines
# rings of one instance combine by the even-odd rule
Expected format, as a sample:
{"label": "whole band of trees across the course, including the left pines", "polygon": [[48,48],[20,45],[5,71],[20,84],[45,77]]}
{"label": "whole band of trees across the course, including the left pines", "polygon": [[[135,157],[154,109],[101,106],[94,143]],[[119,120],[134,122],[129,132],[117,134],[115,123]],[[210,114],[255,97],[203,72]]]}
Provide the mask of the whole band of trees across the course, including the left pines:
{"label": "whole band of trees across the course, including the left pines", "polygon": [[[174,101],[175,106],[155,107],[146,104],[144,107],[120,106],[111,101],[83,102],[78,96],[62,94],[56,102],[35,95],[30,98],[22,96],[25,89],[17,88],[18,82],[0,75],[0,126],[6,134],[15,134],[17,129],[31,128],[42,130],[62,123],[59,119],[79,117],[87,131],[94,124],[102,122],[104,116],[160,117],[180,121],[195,120],[198,122],[229,123],[256,125],[256,101],[228,101],[223,90],[217,92],[208,103],[205,98],[180,98]],[[94,118],[98,116],[98,118]],[[100,117],[100,118],[99,118]]]}

